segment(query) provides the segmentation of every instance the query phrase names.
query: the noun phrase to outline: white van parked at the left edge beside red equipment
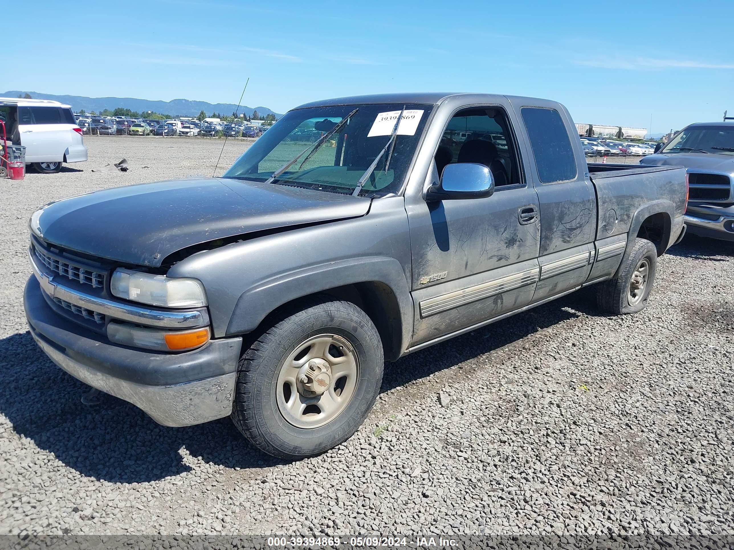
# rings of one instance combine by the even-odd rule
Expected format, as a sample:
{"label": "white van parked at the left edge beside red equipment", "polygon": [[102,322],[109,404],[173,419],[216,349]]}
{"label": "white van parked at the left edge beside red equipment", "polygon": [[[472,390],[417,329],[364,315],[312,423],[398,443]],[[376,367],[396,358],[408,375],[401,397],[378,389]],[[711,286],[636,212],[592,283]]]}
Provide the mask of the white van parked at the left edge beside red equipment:
{"label": "white van parked at the left edge beside red equipment", "polygon": [[64,162],[87,160],[87,147],[70,106],[21,98],[0,98],[0,106],[7,107],[8,141],[26,147],[26,164],[33,164],[38,172],[52,174]]}

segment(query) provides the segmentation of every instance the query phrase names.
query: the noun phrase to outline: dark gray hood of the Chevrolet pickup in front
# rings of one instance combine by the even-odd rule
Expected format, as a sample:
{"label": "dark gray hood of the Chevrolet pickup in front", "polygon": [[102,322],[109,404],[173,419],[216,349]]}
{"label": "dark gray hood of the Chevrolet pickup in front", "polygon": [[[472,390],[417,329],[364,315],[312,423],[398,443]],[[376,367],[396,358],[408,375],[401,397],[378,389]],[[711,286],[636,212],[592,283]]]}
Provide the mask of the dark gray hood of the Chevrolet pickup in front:
{"label": "dark gray hood of the Chevrolet pickup in front", "polygon": [[364,216],[366,197],[224,178],[141,183],[51,202],[34,215],[43,240],[93,256],[158,267],[219,238]]}

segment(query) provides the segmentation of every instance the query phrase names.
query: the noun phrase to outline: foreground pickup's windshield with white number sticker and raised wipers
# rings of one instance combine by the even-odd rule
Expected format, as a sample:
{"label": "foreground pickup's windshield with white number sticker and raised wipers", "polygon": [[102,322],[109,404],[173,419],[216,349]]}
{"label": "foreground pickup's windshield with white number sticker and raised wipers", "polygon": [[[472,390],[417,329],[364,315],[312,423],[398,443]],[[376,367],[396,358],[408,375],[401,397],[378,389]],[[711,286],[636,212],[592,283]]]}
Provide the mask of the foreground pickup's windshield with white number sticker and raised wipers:
{"label": "foreground pickup's windshield with white number sticker and raised wipers", "polygon": [[[311,107],[289,111],[237,159],[223,177],[264,182],[299,153],[313,147],[344,117],[349,117],[327,142],[306,152],[272,180],[274,184],[352,193],[390,139],[405,108],[392,155],[382,155],[363,186],[363,194],[396,193],[415,153],[432,106],[411,104]],[[308,158],[305,162],[303,159]],[[388,162],[388,158],[390,161]],[[388,169],[385,170],[385,166]]]}

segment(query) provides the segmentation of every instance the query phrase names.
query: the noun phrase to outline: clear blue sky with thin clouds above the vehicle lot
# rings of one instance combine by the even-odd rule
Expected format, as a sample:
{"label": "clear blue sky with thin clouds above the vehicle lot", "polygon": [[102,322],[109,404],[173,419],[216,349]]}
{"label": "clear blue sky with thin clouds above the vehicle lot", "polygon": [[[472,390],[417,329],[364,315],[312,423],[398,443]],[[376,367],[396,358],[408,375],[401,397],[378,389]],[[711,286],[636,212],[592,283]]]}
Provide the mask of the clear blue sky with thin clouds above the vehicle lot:
{"label": "clear blue sky with thin clouds above the vehicle lot", "polygon": [[[21,24],[29,8],[53,15]],[[550,98],[575,122],[652,115],[654,133],[734,113],[734,0],[27,0],[4,21],[23,62],[0,91],[236,103],[249,76],[244,105],[277,112],[421,90]]]}

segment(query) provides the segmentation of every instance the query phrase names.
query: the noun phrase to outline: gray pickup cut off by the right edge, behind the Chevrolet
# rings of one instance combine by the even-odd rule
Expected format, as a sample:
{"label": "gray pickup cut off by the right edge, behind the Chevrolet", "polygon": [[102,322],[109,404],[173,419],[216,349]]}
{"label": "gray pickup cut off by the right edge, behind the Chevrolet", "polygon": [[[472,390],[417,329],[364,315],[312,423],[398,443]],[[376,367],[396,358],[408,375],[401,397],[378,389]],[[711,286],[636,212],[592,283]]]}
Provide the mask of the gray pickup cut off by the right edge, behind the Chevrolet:
{"label": "gray pickup cut off by the right edge, behind the Chevrolet", "polygon": [[734,241],[734,122],[697,122],[665,145],[655,147],[640,164],[686,166],[690,197],[688,232]]}

